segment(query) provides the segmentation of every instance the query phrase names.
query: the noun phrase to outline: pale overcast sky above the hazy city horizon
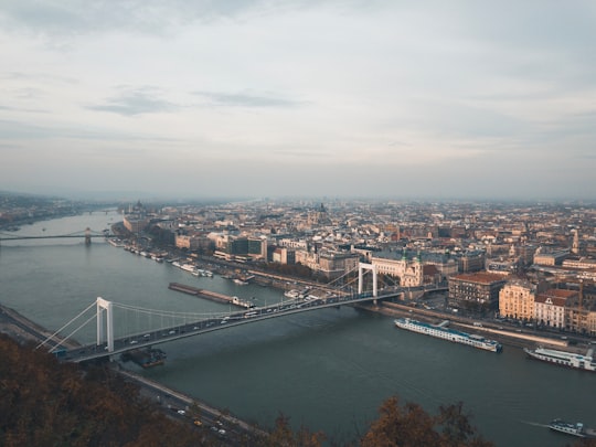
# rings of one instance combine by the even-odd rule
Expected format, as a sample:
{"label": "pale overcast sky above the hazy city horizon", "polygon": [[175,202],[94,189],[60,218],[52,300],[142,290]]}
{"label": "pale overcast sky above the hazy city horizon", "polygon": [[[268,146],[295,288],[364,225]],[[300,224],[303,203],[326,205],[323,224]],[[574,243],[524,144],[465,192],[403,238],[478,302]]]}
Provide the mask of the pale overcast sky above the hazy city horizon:
{"label": "pale overcast sky above the hazy city horizon", "polygon": [[0,190],[594,199],[593,0],[3,0]]}

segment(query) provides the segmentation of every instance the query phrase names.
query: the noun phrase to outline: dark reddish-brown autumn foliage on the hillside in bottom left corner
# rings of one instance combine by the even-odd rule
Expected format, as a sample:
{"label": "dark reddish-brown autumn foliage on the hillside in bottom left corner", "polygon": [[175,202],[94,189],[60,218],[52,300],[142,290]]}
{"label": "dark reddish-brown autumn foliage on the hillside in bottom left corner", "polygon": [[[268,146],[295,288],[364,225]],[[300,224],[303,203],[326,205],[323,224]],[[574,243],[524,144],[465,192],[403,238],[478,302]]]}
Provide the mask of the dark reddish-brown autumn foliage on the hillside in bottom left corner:
{"label": "dark reddish-brown autumn foliage on the hillside in bottom left corner", "polygon": [[82,374],[50,354],[0,336],[0,445],[196,446],[181,426],[105,369]]}

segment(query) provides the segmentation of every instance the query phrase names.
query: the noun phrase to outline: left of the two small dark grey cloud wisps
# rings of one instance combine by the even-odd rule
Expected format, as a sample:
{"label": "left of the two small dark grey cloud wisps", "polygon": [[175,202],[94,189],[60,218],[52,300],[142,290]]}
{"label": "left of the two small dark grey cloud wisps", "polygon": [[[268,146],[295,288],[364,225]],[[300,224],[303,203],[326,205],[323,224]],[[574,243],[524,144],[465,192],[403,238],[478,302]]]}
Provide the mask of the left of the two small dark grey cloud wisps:
{"label": "left of the two small dark grey cloud wisps", "polygon": [[172,113],[179,105],[161,99],[151,87],[142,87],[123,92],[120,95],[106,99],[106,104],[87,106],[87,109],[110,111],[124,116],[142,114]]}

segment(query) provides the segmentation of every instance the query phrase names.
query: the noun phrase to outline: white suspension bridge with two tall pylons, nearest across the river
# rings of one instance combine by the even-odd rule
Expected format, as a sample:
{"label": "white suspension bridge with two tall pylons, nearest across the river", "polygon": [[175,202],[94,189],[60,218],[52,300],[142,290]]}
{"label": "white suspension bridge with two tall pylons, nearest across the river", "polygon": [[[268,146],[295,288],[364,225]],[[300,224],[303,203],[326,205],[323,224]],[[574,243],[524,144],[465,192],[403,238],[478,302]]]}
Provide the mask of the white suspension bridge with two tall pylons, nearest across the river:
{"label": "white suspension bridge with two tall pylons, nearest across the river", "polygon": [[[242,324],[256,323],[318,309],[398,297],[406,290],[401,287],[392,287],[390,290],[384,290],[383,294],[379,295],[377,275],[374,266],[361,263],[356,268],[359,270],[358,277],[352,278],[351,283],[342,286],[349,287],[352,290],[351,292],[338,288],[337,292],[328,291],[324,297],[307,296],[240,311],[217,313],[173,312],[113,302],[99,297],[42,341],[38,348],[49,349],[50,352],[60,354],[58,356],[67,361],[84,362]],[[372,272],[373,276],[372,290],[370,291],[363,290],[363,278],[366,270]],[[336,281],[342,279],[343,277],[336,279]],[[358,292],[350,286],[356,280]],[[67,343],[67,341],[75,340],[77,332],[89,324],[95,324],[96,340],[94,343],[76,345],[75,348],[73,348],[73,343]],[[66,348],[67,345],[71,348]]]}

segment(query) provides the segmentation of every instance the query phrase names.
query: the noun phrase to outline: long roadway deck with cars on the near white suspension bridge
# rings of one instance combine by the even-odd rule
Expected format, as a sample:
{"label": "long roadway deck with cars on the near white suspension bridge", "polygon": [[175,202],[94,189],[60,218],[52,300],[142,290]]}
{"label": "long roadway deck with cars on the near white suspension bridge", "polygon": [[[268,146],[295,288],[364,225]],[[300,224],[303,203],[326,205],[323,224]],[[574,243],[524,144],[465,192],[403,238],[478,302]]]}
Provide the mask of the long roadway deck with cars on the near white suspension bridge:
{"label": "long roadway deck with cars on the near white suspension bridge", "polygon": [[331,296],[328,298],[316,298],[309,300],[286,301],[275,306],[246,309],[238,312],[219,315],[195,322],[184,323],[170,328],[161,328],[135,336],[114,340],[114,351],[108,351],[107,343],[88,344],[70,350],[65,353],[64,360],[72,362],[84,362],[108,355],[121,354],[139,348],[150,348],[156,344],[183,339],[187,337],[200,336],[215,330],[226,329],[246,323],[267,320],[270,318],[284,317],[294,313],[306,312],[316,309],[353,305],[359,302],[373,301],[375,299],[386,299],[400,296],[403,288],[394,289],[384,295],[373,297],[371,292],[360,296]]}

